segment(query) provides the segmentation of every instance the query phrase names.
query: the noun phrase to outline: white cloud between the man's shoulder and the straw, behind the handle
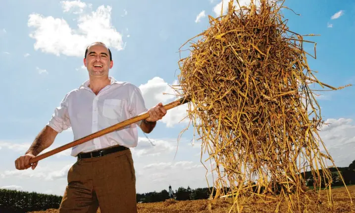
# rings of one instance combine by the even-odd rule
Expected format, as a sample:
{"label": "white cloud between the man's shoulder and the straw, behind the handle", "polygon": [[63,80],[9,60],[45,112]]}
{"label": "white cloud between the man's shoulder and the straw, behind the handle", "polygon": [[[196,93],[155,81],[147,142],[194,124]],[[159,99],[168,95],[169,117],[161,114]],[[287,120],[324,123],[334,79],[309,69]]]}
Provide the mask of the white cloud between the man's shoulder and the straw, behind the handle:
{"label": "white cloud between the man's shoulder and the straw, behind the handle", "polygon": [[[175,81],[172,85],[176,84],[177,82]],[[140,85],[139,88],[142,91],[142,95],[148,109],[155,106],[159,102],[164,105],[168,104],[171,101],[174,101],[176,97],[175,90],[159,77],[154,77],[153,79],[149,80],[147,84]],[[188,123],[189,119],[184,119],[187,116],[187,109],[187,104],[174,107],[168,110],[166,115],[161,120],[159,120],[159,122],[166,124],[167,127],[173,127],[175,124],[181,122],[181,120],[183,120],[182,122],[184,123]]]}

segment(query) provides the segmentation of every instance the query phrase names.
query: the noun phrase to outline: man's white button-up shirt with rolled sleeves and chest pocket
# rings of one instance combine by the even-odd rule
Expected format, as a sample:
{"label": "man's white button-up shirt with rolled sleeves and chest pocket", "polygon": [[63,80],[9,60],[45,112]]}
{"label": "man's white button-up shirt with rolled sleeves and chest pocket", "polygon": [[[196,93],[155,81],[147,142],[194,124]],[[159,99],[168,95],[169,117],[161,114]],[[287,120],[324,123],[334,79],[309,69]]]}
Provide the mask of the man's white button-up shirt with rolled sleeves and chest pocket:
{"label": "man's white button-up shirt with rolled sleeves and chest pocket", "polygon": [[[137,86],[117,82],[112,77],[109,79],[111,84],[102,88],[98,95],[88,87],[89,80],[68,92],[47,125],[58,133],[71,127],[74,140],[77,140],[148,111]],[[137,125],[140,123],[79,144],[72,148],[71,155],[75,157],[80,152],[113,145],[135,147],[138,144]]]}

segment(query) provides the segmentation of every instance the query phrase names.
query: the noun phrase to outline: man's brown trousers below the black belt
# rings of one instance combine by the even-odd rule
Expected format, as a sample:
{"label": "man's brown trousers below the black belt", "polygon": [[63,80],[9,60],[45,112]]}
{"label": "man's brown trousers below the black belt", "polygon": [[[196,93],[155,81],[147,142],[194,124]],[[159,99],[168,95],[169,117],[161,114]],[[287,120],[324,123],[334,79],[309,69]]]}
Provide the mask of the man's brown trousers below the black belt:
{"label": "man's brown trousers below the black belt", "polygon": [[131,150],[78,159],[68,171],[59,213],[137,213]]}

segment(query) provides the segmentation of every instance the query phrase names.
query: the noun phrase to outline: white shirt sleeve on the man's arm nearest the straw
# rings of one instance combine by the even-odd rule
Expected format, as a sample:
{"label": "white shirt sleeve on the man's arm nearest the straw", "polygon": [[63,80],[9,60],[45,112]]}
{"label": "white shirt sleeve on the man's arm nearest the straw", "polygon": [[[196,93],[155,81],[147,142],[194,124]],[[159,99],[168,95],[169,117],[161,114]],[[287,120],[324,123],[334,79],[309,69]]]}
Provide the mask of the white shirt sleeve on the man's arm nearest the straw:
{"label": "white shirt sleeve on the man's arm nearest the straw", "polygon": [[[131,112],[132,117],[148,112],[148,109],[146,108],[146,104],[144,102],[142,92],[137,86],[133,85],[133,90],[130,96],[131,97],[130,97],[129,110]],[[136,124],[140,126],[141,123],[142,121],[139,121]]]}

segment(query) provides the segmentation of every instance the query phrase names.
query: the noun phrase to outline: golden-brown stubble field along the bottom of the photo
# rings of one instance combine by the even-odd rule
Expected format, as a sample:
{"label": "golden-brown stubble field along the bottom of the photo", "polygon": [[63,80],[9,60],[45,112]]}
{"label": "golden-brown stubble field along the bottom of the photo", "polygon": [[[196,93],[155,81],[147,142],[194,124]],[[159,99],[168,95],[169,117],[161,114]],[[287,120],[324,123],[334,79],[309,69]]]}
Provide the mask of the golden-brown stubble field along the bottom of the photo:
{"label": "golden-brown stubble field along the bottom of the photo", "polygon": [[[335,188],[332,190],[334,198],[334,207],[331,210],[328,206],[327,195],[325,191],[321,193],[321,205],[316,205],[315,202],[309,201],[305,206],[304,213],[355,213],[355,186],[348,186],[353,204],[350,202],[349,195],[345,187]],[[158,203],[138,204],[139,213],[226,213],[230,204],[228,200],[220,199],[211,207],[208,208],[207,200],[195,201],[175,201],[168,200]],[[287,204],[282,204],[279,213],[287,213]],[[276,204],[257,204],[249,205],[243,209],[243,213],[273,213]],[[319,208],[319,209],[318,209]],[[58,210],[50,209],[47,211],[32,212],[32,213],[58,213]],[[100,213],[100,210],[98,211]]]}

